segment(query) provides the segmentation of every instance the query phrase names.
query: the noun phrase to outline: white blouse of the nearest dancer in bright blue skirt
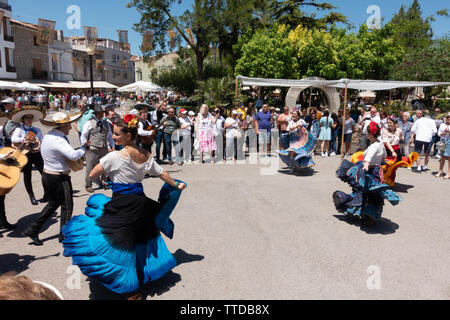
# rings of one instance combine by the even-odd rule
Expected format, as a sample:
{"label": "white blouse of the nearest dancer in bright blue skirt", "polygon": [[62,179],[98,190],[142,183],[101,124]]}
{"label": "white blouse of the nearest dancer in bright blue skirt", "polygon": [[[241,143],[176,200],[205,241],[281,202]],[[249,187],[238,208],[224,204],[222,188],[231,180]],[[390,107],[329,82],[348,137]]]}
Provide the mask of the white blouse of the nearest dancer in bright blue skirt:
{"label": "white blouse of the nearest dancer in bright blue skirt", "polygon": [[119,151],[104,156],[100,159],[100,164],[113,183],[140,183],[147,173],[159,177],[164,171],[153,157],[143,164],[138,164],[121,155]]}

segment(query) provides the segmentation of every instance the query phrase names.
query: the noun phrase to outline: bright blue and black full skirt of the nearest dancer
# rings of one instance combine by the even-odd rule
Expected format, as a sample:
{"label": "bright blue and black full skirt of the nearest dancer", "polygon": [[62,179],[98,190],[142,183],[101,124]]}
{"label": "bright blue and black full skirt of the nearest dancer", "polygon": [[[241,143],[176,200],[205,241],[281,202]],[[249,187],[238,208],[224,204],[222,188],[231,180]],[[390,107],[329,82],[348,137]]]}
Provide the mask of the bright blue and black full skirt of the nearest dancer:
{"label": "bright blue and black full skirt of the nearest dancer", "polygon": [[145,196],[141,183],[113,183],[112,191],[112,198],[91,196],[86,215],[63,227],[64,256],[72,257],[84,275],[125,294],[176,266],[161,233],[173,237],[170,215],[181,191],[164,184],[158,201]]}

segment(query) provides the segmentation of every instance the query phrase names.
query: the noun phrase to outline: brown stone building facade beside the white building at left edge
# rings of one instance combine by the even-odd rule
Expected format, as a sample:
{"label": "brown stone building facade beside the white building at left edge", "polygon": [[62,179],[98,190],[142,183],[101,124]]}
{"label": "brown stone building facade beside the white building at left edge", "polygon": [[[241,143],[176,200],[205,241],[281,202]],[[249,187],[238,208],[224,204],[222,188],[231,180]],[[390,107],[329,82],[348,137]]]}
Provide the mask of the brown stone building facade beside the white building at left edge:
{"label": "brown stone building facade beside the white building at left edge", "polygon": [[14,65],[20,81],[49,80],[49,48],[39,46],[37,26],[11,19],[15,41]]}

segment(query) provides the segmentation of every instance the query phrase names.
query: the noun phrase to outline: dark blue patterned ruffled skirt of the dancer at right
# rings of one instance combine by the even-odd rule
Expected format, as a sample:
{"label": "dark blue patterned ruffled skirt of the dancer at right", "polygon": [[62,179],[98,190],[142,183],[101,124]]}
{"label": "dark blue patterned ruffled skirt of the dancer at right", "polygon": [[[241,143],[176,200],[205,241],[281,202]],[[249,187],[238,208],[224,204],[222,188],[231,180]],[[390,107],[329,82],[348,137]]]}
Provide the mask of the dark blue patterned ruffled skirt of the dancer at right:
{"label": "dark blue patterned ruffled skirt of the dancer at right", "polygon": [[383,212],[384,200],[396,206],[402,200],[401,197],[389,185],[382,183],[382,169],[374,166],[369,171],[364,170],[364,162],[356,164],[344,160],[336,171],[339,179],[352,187],[352,193],[342,191],[333,193],[333,201],[341,213],[359,216],[370,216],[374,220],[380,220]]}

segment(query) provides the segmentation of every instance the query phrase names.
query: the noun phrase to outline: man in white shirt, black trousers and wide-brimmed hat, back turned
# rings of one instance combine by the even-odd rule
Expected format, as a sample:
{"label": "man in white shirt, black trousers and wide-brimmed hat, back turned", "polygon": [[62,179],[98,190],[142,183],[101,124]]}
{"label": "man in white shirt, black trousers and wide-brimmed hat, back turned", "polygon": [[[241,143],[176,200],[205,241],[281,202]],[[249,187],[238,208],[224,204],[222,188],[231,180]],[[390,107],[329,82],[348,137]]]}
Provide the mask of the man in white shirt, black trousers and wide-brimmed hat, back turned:
{"label": "man in white shirt, black trousers and wide-brimmed hat, back turned", "polygon": [[75,161],[83,157],[84,146],[79,150],[74,150],[67,139],[67,135],[72,128],[71,123],[78,120],[78,116],[67,116],[58,112],[53,116],[53,121],[46,121],[45,124],[56,127],[51,130],[42,140],[41,153],[44,159],[44,174],[42,183],[48,192],[49,202],[33,221],[26,231],[25,236],[33,240],[32,245],[42,246],[39,240],[39,231],[44,223],[61,207],[59,242],[64,239],[62,228],[72,218],[73,211],[73,190],[70,179],[70,166],[67,160]]}

